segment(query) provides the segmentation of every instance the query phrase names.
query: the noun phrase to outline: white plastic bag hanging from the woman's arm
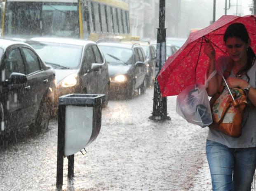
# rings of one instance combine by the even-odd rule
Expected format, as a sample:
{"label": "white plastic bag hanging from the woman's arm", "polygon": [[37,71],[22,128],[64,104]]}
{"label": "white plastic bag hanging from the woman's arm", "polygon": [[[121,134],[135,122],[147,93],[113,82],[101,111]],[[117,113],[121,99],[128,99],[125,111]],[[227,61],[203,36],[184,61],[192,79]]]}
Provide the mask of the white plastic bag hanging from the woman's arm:
{"label": "white plastic bag hanging from the woman's arm", "polygon": [[209,80],[216,74],[216,70],[205,77],[204,85],[195,84],[186,87],[177,96],[176,112],[188,122],[207,127],[212,123],[211,108],[207,94]]}

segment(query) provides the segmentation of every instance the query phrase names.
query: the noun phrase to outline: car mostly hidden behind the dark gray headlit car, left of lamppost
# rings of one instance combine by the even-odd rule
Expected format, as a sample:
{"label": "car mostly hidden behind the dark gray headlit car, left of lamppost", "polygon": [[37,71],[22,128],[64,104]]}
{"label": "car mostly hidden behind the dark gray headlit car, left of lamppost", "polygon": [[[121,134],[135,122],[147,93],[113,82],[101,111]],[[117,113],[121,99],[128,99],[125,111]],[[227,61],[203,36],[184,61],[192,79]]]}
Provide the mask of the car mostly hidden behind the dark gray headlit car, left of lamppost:
{"label": "car mostly hidden behind the dark gray headlit car, left of lamppost", "polygon": [[147,87],[153,85],[155,82],[155,64],[156,64],[156,51],[155,47],[150,44],[149,41],[140,41],[140,40],[132,40],[132,41],[122,41],[127,44],[137,44],[140,45],[146,56],[146,67],[147,67]]}

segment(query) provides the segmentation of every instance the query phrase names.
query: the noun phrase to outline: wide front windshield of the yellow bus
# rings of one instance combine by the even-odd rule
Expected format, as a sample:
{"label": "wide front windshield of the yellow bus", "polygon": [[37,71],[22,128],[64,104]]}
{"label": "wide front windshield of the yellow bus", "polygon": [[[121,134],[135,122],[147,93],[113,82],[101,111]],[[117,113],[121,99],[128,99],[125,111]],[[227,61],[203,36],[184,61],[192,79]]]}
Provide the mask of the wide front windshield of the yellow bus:
{"label": "wide front windshield of the yellow bus", "polygon": [[79,38],[78,3],[7,1],[4,35]]}

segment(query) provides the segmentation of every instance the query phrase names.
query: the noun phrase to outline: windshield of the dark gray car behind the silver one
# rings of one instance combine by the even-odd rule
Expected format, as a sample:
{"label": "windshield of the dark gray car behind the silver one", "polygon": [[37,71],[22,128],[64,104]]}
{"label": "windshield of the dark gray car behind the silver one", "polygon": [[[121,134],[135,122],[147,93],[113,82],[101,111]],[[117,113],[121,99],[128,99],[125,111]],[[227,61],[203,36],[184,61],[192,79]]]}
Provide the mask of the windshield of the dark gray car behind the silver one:
{"label": "windshield of the dark gray car behind the silver one", "polygon": [[99,45],[99,47],[101,48],[101,51],[109,64],[132,64],[132,49],[101,45]]}

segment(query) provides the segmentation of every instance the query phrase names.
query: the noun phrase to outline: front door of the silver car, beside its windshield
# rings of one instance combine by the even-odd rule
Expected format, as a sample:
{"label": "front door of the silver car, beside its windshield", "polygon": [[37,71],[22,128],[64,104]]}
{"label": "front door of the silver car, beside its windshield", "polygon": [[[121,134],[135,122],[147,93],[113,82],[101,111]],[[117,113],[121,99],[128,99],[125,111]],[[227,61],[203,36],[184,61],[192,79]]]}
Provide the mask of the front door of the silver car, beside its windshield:
{"label": "front door of the silver car, beside its windshield", "polygon": [[92,63],[96,63],[96,58],[92,44],[89,44],[85,47],[80,69],[81,89],[83,93],[94,94],[98,92],[98,74],[91,70]]}

